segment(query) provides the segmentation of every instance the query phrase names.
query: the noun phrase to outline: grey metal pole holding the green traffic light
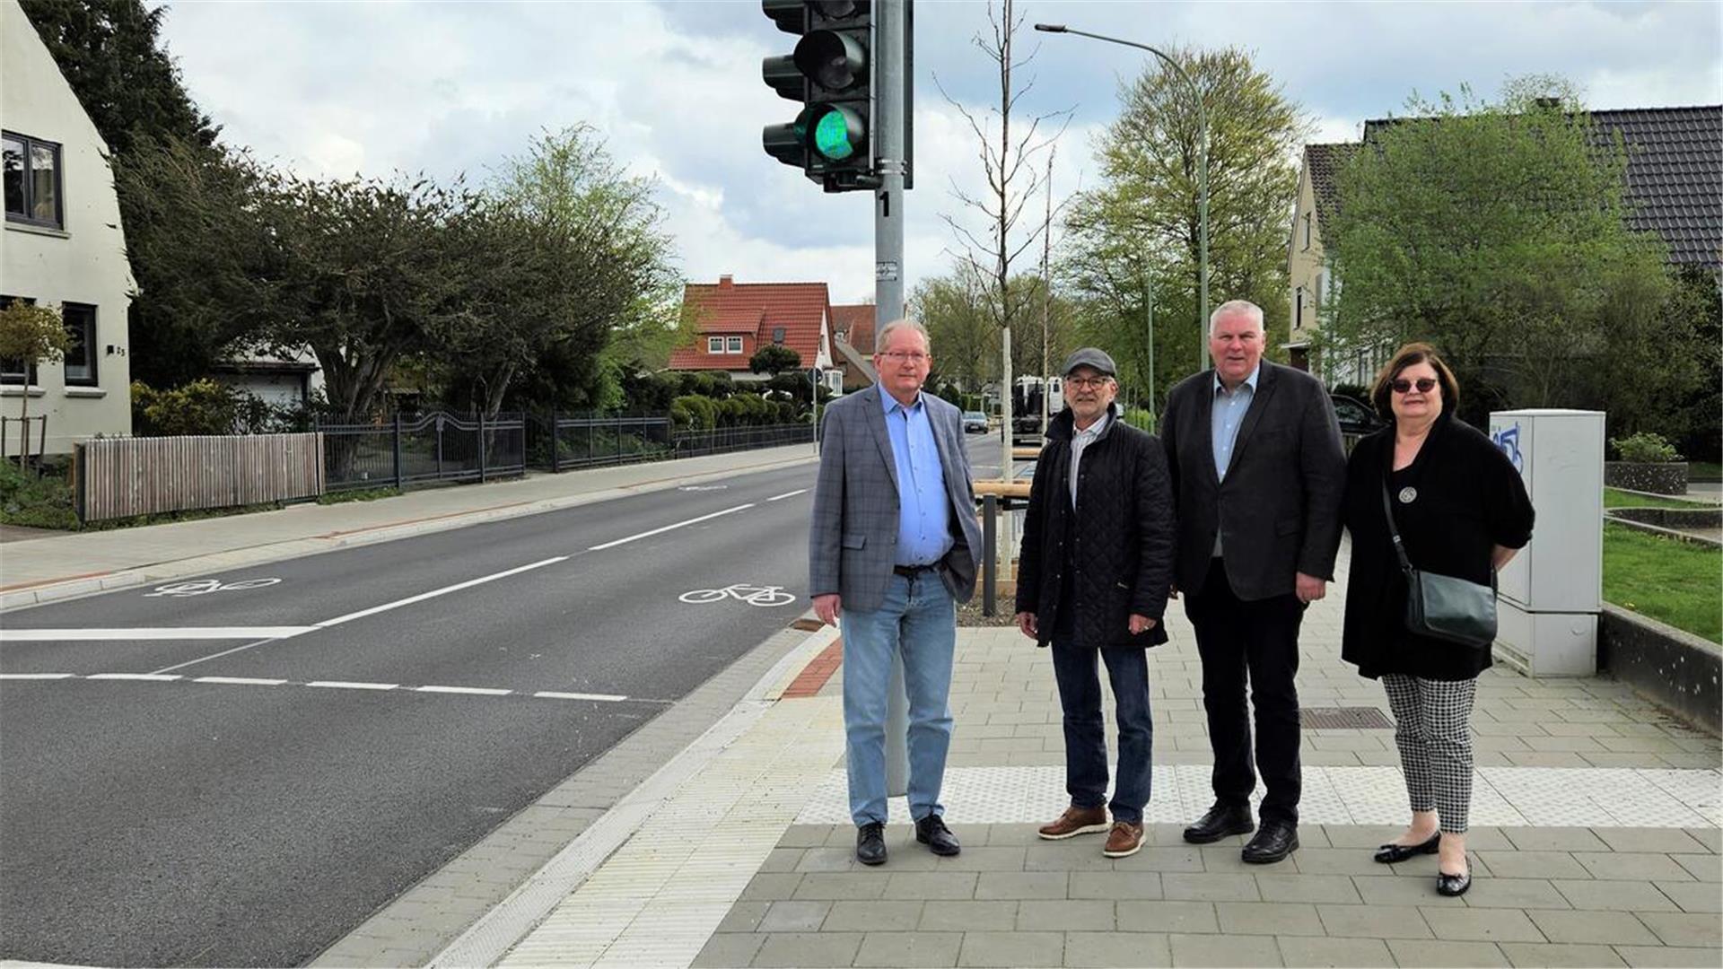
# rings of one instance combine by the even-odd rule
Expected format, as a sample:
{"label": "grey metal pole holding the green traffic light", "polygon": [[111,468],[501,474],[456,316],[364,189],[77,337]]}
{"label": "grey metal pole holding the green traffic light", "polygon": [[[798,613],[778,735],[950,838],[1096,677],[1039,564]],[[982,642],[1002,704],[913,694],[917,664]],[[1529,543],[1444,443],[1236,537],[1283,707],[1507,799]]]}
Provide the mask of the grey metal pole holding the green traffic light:
{"label": "grey metal pole holding the green traffic light", "polygon": [[[874,193],[874,333],[903,319],[903,122],[911,105],[903,98],[905,24],[908,0],[875,0],[874,136],[880,186]],[[886,705],[886,793],[910,790],[910,702],[903,657],[891,664]]]}

